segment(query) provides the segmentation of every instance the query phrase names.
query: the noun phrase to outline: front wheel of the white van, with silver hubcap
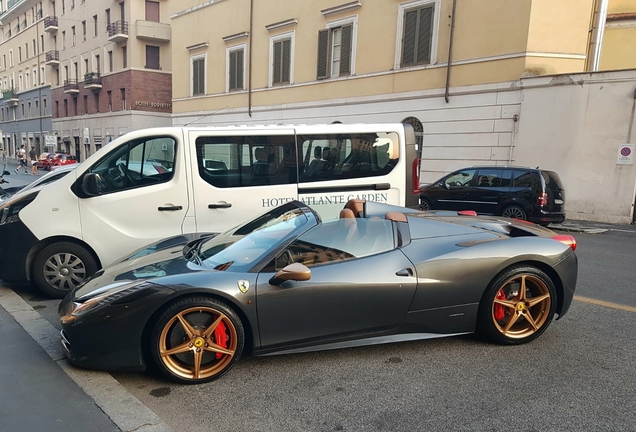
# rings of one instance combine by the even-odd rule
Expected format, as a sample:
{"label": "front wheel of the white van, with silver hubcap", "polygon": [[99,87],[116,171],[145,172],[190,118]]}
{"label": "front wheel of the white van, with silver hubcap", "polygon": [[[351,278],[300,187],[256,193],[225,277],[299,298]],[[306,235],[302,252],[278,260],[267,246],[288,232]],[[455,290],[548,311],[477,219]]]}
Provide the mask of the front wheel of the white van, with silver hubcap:
{"label": "front wheel of the white van, with silver hubcap", "polygon": [[59,242],[45,247],[35,258],[33,280],[45,295],[64,298],[97,270],[97,261],[85,247]]}

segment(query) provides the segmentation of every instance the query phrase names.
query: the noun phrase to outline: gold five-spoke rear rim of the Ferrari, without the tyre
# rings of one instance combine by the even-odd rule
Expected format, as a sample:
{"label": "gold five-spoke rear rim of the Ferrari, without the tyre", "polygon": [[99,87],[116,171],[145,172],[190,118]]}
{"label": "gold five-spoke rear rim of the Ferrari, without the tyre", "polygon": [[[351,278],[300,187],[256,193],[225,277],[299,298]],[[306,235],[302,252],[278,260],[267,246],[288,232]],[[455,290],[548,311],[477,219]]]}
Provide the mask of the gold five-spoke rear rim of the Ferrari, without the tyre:
{"label": "gold five-spoke rear rim of the Ferrari, without the tyre", "polygon": [[529,274],[516,275],[497,291],[492,319],[502,335],[523,339],[543,327],[551,307],[552,297],[543,280]]}

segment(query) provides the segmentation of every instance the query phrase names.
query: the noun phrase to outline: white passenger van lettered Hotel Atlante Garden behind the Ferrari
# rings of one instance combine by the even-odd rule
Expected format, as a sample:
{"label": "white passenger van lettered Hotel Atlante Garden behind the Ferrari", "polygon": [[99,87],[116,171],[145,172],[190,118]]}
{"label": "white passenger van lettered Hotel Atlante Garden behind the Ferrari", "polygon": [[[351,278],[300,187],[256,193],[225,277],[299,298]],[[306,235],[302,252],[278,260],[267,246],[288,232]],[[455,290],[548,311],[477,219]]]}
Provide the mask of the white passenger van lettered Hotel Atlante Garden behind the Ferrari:
{"label": "white passenger van lettered Hotel Atlante Garden behind the Ferrari", "polygon": [[0,205],[0,279],[62,297],[151,242],[224,231],[290,200],[329,219],[352,198],[416,208],[418,194],[408,125],[139,130]]}

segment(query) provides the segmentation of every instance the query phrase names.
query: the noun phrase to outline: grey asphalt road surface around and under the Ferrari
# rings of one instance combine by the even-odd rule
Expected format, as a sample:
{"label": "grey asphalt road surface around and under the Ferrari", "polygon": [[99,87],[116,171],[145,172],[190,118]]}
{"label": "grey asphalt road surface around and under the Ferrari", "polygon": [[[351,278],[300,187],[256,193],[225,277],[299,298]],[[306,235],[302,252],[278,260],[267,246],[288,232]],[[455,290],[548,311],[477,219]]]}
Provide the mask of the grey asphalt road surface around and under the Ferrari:
{"label": "grey asphalt road surface around and under the Ferrari", "polygon": [[[199,386],[113,376],[175,431],[634,431],[636,230],[575,237],[577,300],[528,345],[459,337],[246,358]],[[57,326],[57,301],[16,290]]]}

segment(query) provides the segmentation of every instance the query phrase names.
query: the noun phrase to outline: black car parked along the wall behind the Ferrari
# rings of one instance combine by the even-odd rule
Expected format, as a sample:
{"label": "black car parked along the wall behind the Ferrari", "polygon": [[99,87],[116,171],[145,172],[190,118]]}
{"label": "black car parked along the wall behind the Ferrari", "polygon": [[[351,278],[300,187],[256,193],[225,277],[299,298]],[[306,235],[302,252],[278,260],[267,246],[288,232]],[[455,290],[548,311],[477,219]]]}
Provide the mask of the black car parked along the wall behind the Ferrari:
{"label": "black car parked along the wall behind the Ferrari", "polygon": [[554,171],[474,166],[420,186],[422,210],[474,210],[540,225],[565,220],[565,189]]}

